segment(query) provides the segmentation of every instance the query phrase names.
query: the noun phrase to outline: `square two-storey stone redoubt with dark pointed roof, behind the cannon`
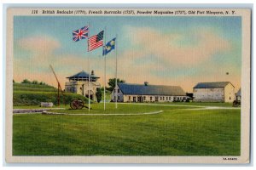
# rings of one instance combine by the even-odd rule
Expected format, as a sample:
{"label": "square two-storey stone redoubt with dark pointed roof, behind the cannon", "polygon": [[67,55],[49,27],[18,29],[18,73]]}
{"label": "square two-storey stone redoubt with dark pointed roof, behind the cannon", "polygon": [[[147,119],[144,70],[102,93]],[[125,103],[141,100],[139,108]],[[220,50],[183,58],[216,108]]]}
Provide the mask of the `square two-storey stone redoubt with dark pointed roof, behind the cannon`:
{"label": "square two-storey stone redoubt with dark pointed roof, behind the cannon", "polygon": [[96,90],[97,88],[101,88],[101,84],[97,82],[99,78],[94,75],[94,71],[91,71],[89,83],[89,74],[81,71],[72,77],[67,77],[68,82],[65,83],[65,91],[73,94],[81,94],[89,98],[90,90],[90,99],[96,100]]}

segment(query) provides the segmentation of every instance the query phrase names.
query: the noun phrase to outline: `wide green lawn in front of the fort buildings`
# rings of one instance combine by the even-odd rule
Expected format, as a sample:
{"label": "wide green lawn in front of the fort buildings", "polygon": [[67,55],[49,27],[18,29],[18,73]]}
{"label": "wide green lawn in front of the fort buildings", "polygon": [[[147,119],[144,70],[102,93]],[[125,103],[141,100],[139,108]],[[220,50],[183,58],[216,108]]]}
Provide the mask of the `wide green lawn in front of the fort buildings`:
{"label": "wide green lawn in front of the fort buildings", "polygon": [[[193,103],[189,107],[179,106],[185,104],[127,104],[119,105],[117,110],[114,104],[107,104],[107,111],[102,111],[102,104],[94,104],[90,111],[124,113],[124,116],[14,115],[13,155],[240,155],[240,109],[192,111],[188,109],[193,108]],[[125,115],[160,110],[163,112],[155,115]],[[88,111],[67,110],[67,113]]]}

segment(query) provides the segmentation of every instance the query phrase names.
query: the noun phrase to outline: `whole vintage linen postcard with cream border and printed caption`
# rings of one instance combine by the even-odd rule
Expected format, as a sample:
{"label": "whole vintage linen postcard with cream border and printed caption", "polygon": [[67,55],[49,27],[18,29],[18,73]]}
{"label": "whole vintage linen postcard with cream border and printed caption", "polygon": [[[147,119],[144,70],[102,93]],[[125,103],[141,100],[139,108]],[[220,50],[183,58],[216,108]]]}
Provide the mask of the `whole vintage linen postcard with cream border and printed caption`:
{"label": "whole vintage linen postcard with cream border and printed caption", "polygon": [[8,8],[6,161],[250,162],[251,9]]}

